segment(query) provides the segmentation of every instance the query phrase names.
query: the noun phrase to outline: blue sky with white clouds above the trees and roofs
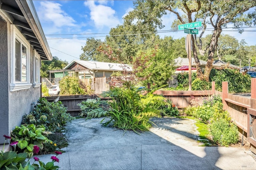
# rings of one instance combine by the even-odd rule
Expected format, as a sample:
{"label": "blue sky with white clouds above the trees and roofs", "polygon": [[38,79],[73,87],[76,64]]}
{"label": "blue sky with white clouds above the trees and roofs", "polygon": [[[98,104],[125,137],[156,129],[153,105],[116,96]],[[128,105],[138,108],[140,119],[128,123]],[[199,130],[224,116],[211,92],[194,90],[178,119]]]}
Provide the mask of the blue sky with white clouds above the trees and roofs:
{"label": "blue sky with white clouds above the trees and roofs", "polygon": [[[133,9],[132,0],[33,0],[33,2],[52,55],[68,62],[79,60],[82,54],[81,48],[86,44],[86,38],[79,37],[94,37],[103,41],[104,36],[108,34],[92,33],[109,33],[110,28],[122,24],[122,17]],[[163,30],[171,29],[170,25],[174,19],[176,19],[174,15],[164,16],[162,20],[166,27]],[[255,28],[245,30],[255,30]],[[248,45],[256,45],[254,38],[256,32],[240,34],[236,31],[223,31],[223,33],[234,36],[239,41],[245,39]],[[178,39],[185,37],[186,33],[180,31],[159,35]]]}

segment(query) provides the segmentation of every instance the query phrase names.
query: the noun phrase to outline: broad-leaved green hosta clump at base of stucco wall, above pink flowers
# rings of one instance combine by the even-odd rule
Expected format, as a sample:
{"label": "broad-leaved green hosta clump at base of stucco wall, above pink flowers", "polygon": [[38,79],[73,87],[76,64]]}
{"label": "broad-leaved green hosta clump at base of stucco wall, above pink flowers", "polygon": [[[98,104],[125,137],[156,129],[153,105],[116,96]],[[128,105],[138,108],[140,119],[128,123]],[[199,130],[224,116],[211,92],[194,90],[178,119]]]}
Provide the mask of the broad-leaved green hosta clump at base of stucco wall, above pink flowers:
{"label": "broad-leaved green hosta clump at base of stucco wall, above pink flowers", "polygon": [[11,133],[11,142],[18,141],[17,151],[32,154],[34,145],[43,148],[43,144],[48,140],[47,133],[43,125],[21,125],[16,126]]}

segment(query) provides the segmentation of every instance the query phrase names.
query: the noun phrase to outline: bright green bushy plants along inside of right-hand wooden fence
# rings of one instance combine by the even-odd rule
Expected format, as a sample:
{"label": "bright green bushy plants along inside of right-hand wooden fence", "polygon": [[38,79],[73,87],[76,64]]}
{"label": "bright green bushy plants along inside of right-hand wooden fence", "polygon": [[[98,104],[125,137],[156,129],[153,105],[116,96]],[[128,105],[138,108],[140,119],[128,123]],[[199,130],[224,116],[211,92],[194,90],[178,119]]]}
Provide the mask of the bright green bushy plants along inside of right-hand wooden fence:
{"label": "bright green bushy plants along inside of right-hand wooden fence", "polygon": [[238,129],[231,121],[227,111],[222,109],[222,99],[218,95],[206,98],[201,106],[184,109],[186,115],[197,117],[210,129],[212,140],[220,146],[236,144],[239,140]]}

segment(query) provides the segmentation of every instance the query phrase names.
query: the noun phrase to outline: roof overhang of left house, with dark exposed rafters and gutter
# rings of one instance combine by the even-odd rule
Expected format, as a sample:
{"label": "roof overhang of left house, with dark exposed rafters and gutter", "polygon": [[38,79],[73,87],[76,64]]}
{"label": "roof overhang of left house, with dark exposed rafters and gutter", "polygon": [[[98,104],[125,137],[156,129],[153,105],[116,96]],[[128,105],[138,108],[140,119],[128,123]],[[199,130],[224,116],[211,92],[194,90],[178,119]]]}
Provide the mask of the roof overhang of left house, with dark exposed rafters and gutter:
{"label": "roof overhang of left house, with dark exposed rafters and gutter", "polygon": [[0,0],[0,12],[16,25],[42,60],[52,60],[50,47],[32,0]]}

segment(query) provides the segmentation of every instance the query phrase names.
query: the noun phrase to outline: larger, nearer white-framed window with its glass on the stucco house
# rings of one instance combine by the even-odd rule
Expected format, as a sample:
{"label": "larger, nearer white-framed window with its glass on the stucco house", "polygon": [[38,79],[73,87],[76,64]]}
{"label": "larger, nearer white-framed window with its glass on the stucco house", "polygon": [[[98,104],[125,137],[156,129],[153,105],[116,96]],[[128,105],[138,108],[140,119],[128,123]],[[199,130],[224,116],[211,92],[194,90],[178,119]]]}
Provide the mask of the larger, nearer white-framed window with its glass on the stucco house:
{"label": "larger, nearer white-framed window with its glass on the stucco house", "polygon": [[11,45],[11,69],[12,78],[10,91],[23,90],[30,88],[30,44],[20,31],[12,25]]}

